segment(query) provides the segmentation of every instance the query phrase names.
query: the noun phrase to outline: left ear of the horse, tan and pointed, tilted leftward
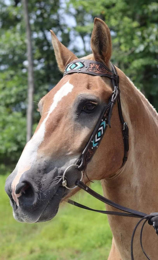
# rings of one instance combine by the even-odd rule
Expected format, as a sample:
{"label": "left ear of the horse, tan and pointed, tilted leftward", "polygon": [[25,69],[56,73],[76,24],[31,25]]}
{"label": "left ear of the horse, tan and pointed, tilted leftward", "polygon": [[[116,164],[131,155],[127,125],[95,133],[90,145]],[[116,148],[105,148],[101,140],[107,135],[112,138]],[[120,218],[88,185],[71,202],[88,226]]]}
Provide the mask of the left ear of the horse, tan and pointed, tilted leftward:
{"label": "left ear of the horse, tan and pointed, tilted leftward", "polygon": [[52,45],[54,47],[55,58],[61,72],[64,72],[66,65],[78,59],[74,53],[69,51],[56,37],[55,33],[50,30],[52,36]]}

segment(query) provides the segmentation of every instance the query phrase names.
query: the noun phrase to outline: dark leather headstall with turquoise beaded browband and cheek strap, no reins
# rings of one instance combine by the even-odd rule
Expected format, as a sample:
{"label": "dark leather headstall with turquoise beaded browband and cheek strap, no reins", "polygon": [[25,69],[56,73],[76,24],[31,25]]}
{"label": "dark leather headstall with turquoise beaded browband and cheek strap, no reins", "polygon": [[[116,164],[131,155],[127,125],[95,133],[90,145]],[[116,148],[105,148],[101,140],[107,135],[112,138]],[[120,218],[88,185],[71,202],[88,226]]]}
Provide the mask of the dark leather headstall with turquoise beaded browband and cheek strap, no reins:
{"label": "dark leather headstall with turquoise beaded browband and cheek strap, no reins", "polygon": [[[74,66],[77,67],[74,67]],[[112,71],[109,70],[103,63],[91,61],[91,60],[75,60],[71,63],[69,63],[64,71],[64,76],[69,73],[86,73],[91,75],[97,75],[97,76],[105,76],[112,80],[113,85],[113,92],[111,95],[111,98],[109,99],[109,102],[105,107],[103,108],[103,111],[100,115],[100,118],[95,126],[95,129],[93,130],[93,133],[84,148],[81,158],[78,161],[78,170],[83,171],[87,163],[89,163],[92,160],[93,155],[95,154],[104,133],[106,132],[106,129],[109,125],[111,127],[111,115],[114,108],[114,105],[118,104],[118,111],[119,111],[119,118],[122,123],[122,135],[123,135],[123,141],[124,141],[124,157],[122,166],[127,161],[128,156],[128,150],[129,150],[129,144],[128,144],[128,126],[127,122],[124,121],[123,115],[122,115],[122,108],[121,108],[121,100],[120,100],[120,89],[119,89],[119,76],[117,74],[116,68],[113,64],[111,64]],[[122,167],[121,166],[121,167]]]}

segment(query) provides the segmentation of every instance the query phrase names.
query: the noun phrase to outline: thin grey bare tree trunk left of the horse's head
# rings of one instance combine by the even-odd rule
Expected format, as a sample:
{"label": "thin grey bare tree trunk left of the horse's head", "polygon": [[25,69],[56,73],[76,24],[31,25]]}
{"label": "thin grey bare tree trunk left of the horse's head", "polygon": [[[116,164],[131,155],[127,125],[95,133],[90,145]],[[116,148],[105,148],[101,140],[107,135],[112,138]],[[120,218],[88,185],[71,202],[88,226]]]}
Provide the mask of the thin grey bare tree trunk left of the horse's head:
{"label": "thin grey bare tree trunk left of the horse's head", "polygon": [[28,0],[23,0],[24,17],[26,24],[27,38],[27,58],[28,58],[28,108],[27,108],[27,133],[26,141],[28,142],[32,136],[33,125],[33,93],[34,93],[34,76],[33,76],[33,55],[31,45],[31,27],[28,14]]}

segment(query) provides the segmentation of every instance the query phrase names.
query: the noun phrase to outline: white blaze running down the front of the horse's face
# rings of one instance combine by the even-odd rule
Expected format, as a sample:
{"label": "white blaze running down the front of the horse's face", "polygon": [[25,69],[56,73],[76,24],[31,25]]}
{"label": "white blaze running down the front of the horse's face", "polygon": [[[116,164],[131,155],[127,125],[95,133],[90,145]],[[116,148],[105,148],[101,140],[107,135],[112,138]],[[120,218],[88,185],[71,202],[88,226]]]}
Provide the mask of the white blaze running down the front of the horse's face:
{"label": "white blaze running down the front of the horse's face", "polygon": [[16,185],[18,184],[20,177],[25,171],[28,171],[33,162],[36,160],[37,157],[37,151],[44,140],[44,133],[45,133],[45,125],[47,122],[47,119],[49,118],[52,111],[56,108],[58,102],[64,97],[67,96],[68,93],[70,93],[73,89],[73,85],[69,83],[69,81],[64,84],[61,89],[58,90],[58,92],[54,95],[53,103],[50,106],[50,110],[48,111],[48,114],[46,118],[43,120],[42,124],[40,125],[37,132],[33,135],[31,140],[26,144],[22,155],[20,156],[20,159],[17,163],[17,175],[13,179],[12,182],[12,197],[15,200],[16,204],[19,205],[18,197],[21,196],[21,193],[15,194]]}

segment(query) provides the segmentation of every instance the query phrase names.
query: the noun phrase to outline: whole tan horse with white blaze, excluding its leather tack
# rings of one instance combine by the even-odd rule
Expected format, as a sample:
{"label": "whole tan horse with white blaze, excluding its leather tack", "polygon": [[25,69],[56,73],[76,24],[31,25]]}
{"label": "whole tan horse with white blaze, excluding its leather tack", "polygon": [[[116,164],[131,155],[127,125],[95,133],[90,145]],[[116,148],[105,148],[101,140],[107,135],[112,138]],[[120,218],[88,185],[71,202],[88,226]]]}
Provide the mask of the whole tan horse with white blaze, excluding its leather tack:
{"label": "whole tan horse with white blaze, excluding its leather tack", "polygon": [[[52,45],[58,67],[77,60],[51,31]],[[83,60],[104,64],[111,71],[111,35],[108,26],[95,18],[91,36],[92,54]],[[84,182],[100,180],[103,194],[110,200],[150,214],[158,208],[158,114],[133,82],[116,67],[119,75],[122,114],[129,127],[128,160],[122,166],[124,143],[118,105],[114,105],[111,128],[107,127],[95,155],[87,164]],[[139,73],[139,72],[138,72]],[[69,73],[40,100],[39,124],[26,144],[14,171],[6,180],[5,190],[19,222],[35,223],[52,219],[59,204],[79,191],[61,185],[67,170],[69,187],[81,178],[75,167],[98,122],[103,107],[113,93],[110,78],[86,73]],[[107,210],[112,210],[110,205]],[[130,259],[130,240],[138,222],[135,218],[108,215],[113,234],[108,260]],[[134,239],[135,259],[145,259],[139,241]],[[145,226],[143,244],[157,259],[157,237],[154,229]]]}

